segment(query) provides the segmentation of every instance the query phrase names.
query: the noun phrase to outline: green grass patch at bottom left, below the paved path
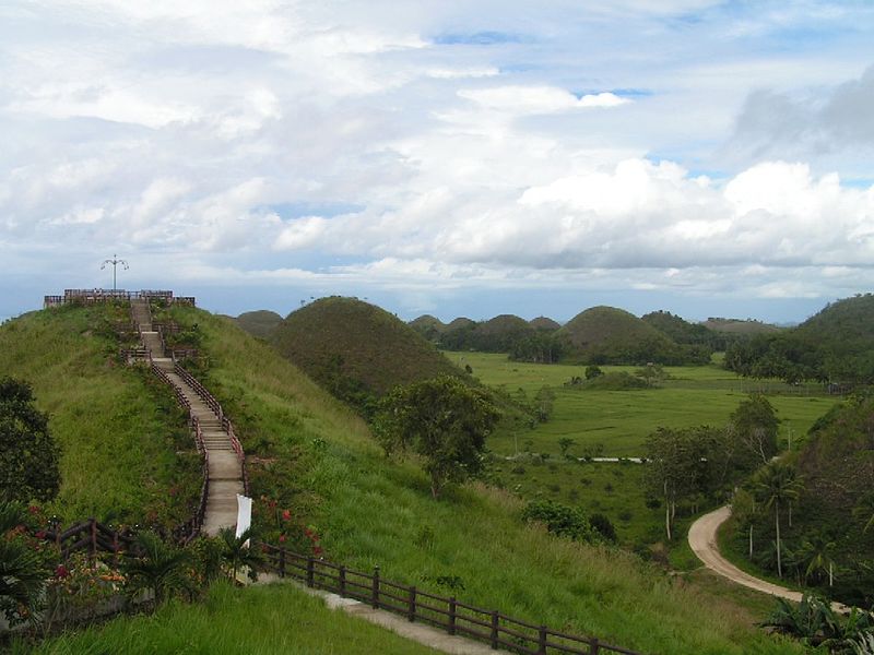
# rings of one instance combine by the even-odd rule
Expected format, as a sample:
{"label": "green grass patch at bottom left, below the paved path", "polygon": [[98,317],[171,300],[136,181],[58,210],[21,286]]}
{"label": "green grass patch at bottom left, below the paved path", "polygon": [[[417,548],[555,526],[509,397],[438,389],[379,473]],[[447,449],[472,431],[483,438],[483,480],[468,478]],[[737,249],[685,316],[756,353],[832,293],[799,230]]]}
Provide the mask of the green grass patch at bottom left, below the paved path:
{"label": "green grass patch at bottom left, below the paved path", "polygon": [[290,584],[234,590],[215,584],[203,603],[169,603],[152,616],[116,619],[44,642],[15,655],[104,655],[107,653],[245,653],[425,655],[432,648],[326,607]]}

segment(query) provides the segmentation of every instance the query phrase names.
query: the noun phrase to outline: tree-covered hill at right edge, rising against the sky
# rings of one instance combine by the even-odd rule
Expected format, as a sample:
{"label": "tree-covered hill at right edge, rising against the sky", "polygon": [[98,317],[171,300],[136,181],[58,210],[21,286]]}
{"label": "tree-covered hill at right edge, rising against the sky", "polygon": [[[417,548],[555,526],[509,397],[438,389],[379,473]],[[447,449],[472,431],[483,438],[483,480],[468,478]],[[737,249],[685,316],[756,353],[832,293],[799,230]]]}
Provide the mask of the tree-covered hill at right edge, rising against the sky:
{"label": "tree-covered hill at right edge, rising against the sky", "polygon": [[725,353],[725,367],[754,378],[874,383],[874,296],[827,305],[798,327],[758,334]]}

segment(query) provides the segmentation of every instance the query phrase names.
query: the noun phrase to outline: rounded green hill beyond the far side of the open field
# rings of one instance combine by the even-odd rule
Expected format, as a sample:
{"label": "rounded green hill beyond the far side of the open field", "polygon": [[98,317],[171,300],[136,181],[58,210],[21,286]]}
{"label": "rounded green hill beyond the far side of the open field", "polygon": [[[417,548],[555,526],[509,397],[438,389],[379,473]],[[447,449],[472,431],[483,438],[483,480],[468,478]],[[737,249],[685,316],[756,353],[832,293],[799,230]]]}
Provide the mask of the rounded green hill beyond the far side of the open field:
{"label": "rounded green hill beyond the far side of the open field", "polygon": [[568,359],[591,364],[682,364],[683,348],[631,313],[614,307],[592,307],[557,333],[568,343]]}

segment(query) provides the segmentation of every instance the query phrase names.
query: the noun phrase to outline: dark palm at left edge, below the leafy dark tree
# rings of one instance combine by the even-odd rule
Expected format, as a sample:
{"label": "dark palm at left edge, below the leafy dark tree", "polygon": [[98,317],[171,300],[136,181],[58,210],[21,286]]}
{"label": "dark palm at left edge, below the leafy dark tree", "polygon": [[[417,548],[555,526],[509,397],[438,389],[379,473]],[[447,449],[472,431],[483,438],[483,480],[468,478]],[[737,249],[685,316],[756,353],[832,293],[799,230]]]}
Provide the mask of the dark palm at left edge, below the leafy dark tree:
{"label": "dark palm at left edge, below the leafy dark tree", "polygon": [[25,521],[24,505],[0,501],[0,609],[10,622],[35,617],[45,586],[39,558],[20,538],[8,535]]}

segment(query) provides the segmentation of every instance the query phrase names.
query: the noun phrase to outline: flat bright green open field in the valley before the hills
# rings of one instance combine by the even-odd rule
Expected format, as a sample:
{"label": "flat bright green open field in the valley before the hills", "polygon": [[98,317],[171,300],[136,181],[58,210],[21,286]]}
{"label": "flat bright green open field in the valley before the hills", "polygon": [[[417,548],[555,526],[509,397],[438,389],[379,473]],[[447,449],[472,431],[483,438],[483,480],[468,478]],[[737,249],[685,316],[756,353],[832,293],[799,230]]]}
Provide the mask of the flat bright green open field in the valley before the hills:
{"label": "flat bright green open field in the valley before the hills", "polygon": [[[553,414],[545,424],[516,434],[496,434],[489,448],[512,455],[530,450],[557,455],[558,440],[574,439],[571,454],[602,452],[607,456],[642,455],[648,434],[658,427],[722,426],[748,393],[765,391],[782,420],[780,434],[788,440],[803,437],[810,426],[837,400],[819,385],[791,386],[779,382],[744,380],[716,365],[665,367],[670,374],[660,388],[636,391],[588,391],[566,388],[584,367],[510,361],[506,355],[447,353],[453,362],[471,366],[482,382],[503,386],[508,393],[523,390],[529,400],[544,385],[555,393]],[[634,371],[635,367],[601,367],[609,371]]]}

